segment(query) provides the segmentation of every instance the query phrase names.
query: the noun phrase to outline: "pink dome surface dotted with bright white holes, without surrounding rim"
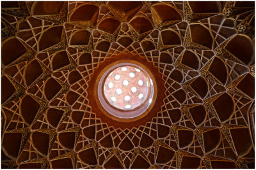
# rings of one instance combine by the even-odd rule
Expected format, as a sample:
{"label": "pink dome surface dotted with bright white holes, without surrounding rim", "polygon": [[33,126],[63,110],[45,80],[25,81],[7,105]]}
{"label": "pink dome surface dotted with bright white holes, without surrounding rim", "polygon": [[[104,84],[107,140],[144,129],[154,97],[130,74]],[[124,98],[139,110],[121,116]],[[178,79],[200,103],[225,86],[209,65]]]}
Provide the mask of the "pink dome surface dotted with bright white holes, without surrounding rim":
{"label": "pink dome surface dotted with bright white holes, without surrounding rim", "polygon": [[145,103],[150,93],[150,79],[133,66],[117,67],[104,83],[104,97],[120,110],[134,110]]}

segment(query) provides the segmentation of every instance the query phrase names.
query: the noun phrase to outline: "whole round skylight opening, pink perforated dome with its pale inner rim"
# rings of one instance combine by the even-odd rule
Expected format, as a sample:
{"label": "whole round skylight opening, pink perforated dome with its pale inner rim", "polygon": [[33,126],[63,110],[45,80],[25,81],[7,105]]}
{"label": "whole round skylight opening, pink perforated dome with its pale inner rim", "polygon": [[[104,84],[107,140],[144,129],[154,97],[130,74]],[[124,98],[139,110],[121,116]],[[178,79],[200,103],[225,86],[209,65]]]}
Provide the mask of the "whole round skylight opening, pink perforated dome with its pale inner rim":
{"label": "whole round skylight opening, pink perforated dome with its pale inner rim", "polygon": [[152,102],[154,85],[142,67],[119,63],[100,78],[99,101],[108,113],[119,118],[138,117]]}

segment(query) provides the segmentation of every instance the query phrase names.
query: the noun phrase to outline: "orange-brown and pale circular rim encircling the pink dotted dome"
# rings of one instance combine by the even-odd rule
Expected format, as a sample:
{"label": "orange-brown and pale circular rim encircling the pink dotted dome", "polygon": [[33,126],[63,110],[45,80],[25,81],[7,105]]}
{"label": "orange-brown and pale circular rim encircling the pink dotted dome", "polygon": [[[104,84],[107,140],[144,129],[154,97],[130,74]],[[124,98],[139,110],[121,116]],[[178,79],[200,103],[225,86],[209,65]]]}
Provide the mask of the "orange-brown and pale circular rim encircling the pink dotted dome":
{"label": "orange-brown and pale circular rim encircling the pink dotted dome", "polygon": [[[149,82],[149,92],[147,99],[141,104],[138,108],[133,110],[120,110],[118,108],[113,107],[106,97],[104,96],[104,83],[106,81],[106,77],[117,67],[124,67],[124,66],[132,66],[137,69],[140,69],[143,73],[145,73],[148,77]],[[134,60],[118,60],[109,64],[109,66],[105,67],[99,74],[97,78],[97,88],[95,87],[95,96],[97,95],[97,104],[101,108],[102,112],[107,115],[108,117],[113,118],[114,120],[121,120],[123,122],[131,122],[134,120],[138,120],[138,118],[144,117],[147,113],[152,109],[154,103],[156,101],[157,96],[157,85],[156,80],[154,79],[153,74],[147,69],[146,66],[141,64],[140,62],[136,62]],[[138,83],[138,82],[136,82]]]}

